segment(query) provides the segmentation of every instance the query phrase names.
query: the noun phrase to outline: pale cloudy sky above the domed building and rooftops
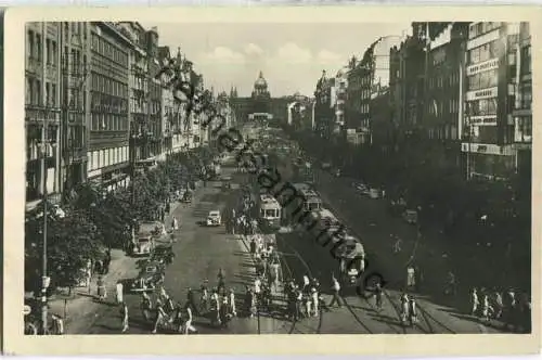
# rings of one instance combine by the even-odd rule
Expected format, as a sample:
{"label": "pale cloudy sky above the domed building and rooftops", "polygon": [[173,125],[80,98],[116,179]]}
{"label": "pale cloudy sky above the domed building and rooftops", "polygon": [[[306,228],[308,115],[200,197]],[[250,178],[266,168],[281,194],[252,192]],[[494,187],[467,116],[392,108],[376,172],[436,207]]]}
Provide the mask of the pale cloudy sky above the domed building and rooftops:
{"label": "pale cloudy sky above the domed building and rooftops", "polygon": [[[147,29],[156,26],[159,46],[169,46],[173,55],[180,47],[203,74],[206,88],[229,93],[235,86],[241,97],[250,95],[259,72],[273,98],[312,95],[322,70],[334,77],[352,55],[360,59],[382,36],[393,36],[378,50],[388,55],[388,44],[410,34],[410,23],[141,24]],[[384,60],[377,70],[386,76]]]}

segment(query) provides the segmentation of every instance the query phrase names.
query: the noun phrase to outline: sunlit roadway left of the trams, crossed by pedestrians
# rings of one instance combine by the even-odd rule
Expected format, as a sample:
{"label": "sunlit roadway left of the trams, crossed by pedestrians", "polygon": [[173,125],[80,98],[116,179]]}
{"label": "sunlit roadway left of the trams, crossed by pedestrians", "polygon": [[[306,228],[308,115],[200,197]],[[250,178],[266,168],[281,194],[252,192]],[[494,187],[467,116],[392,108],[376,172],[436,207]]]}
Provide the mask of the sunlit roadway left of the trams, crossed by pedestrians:
{"label": "sunlit roadway left of the trams, crossed by pedestrians", "polygon": [[[224,170],[225,173],[231,171],[228,168]],[[223,224],[216,228],[201,224],[210,210],[220,209],[222,217],[225,217],[224,209],[235,200],[236,189],[224,191],[220,189],[220,181],[208,182],[205,188],[195,191],[192,204],[180,204],[173,210],[173,216],[180,222],[180,229],[176,232],[177,242],[173,243],[176,257],[166,268],[164,285],[175,301],[184,305],[189,287],[196,291],[198,299],[199,286],[204,280],[208,280],[210,288],[216,286],[218,271],[222,268],[227,288],[234,290],[240,309],[245,285],[251,284],[255,277],[248,249],[240,236],[227,234]],[[166,221],[168,229],[169,222]],[[119,307],[113,303],[114,296],[114,293],[109,294],[111,304],[99,305],[92,319],[89,317],[83,321],[77,321],[77,325],[72,329],[76,329],[80,334],[120,334],[121,318]],[[153,295],[152,298],[154,299]],[[130,319],[130,329],[127,333],[150,334],[152,325],[144,321],[140,310],[141,295],[125,293],[125,301],[129,308]],[[258,320],[255,318],[233,318],[228,329],[217,329],[210,325],[209,319],[195,317],[193,325],[199,334],[258,333]],[[260,333],[288,331],[284,321],[260,317]]]}

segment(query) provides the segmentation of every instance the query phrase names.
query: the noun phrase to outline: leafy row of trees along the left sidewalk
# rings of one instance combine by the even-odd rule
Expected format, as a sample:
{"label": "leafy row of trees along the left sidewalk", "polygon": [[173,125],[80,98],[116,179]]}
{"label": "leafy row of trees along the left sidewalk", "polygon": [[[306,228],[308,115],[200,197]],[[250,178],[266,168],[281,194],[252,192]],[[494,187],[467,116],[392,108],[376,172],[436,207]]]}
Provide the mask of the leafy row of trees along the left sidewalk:
{"label": "leafy row of trees along the left sidewalk", "polygon": [[178,190],[193,185],[205,151],[177,153],[154,169],[138,171],[127,189],[106,192],[90,182],[72,192],[62,209],[48,204],[43,229],[43,203],[26,214],[25,288],[41,286],[43,231],[47,231],[47,271],[51,290],[73,287],[89,260],[105,256],[107,248],[124,248],[138,221],[155,220]]}

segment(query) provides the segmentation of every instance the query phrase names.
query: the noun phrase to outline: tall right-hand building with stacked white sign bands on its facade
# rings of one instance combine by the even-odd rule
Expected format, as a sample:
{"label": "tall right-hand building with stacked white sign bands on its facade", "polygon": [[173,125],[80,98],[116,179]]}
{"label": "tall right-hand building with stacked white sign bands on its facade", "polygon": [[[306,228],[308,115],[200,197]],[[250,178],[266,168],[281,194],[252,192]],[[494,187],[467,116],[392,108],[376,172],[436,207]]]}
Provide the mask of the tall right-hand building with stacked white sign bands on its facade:
{"label": "tall right-hand building with stacked white sign bands on its facade", "polygon": [[467,178],[508,178],[515,168],[514,119],[518,23],[468,28],[466,110],[462,151]]}

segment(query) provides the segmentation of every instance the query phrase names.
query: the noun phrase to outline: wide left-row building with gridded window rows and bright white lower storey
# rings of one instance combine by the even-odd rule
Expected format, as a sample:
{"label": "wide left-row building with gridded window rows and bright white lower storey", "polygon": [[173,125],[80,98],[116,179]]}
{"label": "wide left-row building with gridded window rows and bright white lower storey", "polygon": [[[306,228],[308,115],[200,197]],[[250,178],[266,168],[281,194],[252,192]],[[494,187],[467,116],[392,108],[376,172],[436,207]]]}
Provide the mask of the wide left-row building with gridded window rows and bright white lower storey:
{"label": "wide left-row building with gridded window rows and bright white lower storey", "polygon": [[130,173],[130,51],[132,43],[112,23],[90,25],[90,117],[88,178],[108,191],[125,187]]}

